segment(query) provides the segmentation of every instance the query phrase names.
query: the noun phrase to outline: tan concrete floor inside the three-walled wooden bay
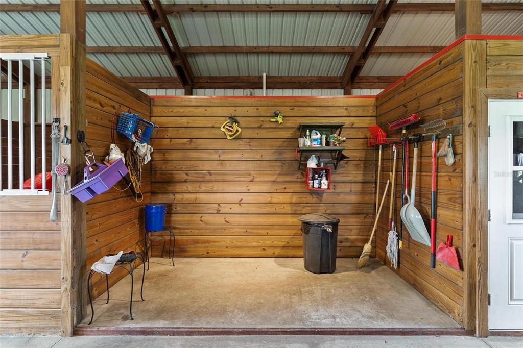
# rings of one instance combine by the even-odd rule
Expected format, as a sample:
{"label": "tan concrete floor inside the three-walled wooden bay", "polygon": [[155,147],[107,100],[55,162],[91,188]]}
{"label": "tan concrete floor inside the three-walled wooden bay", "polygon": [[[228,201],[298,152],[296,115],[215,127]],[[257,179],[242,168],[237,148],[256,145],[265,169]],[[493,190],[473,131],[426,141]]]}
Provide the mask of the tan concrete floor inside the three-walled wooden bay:
{"label": "tan concrete floor inside the three-walled wooden bay", "polygon": [[[95,300],[90,326],[112,327],[401,327],[456,328],[459,324],[378,260],[356,270],[338,259],[333,274],[313,274],[303,259],[153,258],[135,272],[129,320],[130,276]],[[87,309],[90,319],[90,308]]]}

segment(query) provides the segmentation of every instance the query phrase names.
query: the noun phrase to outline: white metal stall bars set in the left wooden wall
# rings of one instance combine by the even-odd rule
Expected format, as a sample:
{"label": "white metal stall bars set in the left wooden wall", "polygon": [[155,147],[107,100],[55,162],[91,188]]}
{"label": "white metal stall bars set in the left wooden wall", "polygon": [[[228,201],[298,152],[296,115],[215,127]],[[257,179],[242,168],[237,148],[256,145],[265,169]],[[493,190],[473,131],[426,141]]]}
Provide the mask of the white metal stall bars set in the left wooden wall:
{"label": "white metal stall bars set in the left wooden wall", "polygon": [[[36,106],[37,97],[35,93],[35,61],[41,63],[41,148],[42,148],[42,172],[41,172],[41,187],[37,185],[36,178]],[[0,61],[6,61],[6,69],[4,74],[7,75],[7,188],[4,187],[3,171],[0,170],[0,195],[47,195],[49,194],[46,187],[46,64],[48,60],[47,53],[0,53]],[[13,187],[13,75],[17,75],[13,71],[13,61],[18,63],[18,188]],[[24,63],[28,63],[29,68]],[[16,64],[15,63],[15,64]],[[30,85],[30,154],[28,162],[30,163],[30,188],[24,189],[24,73],[29,69],[29,85]],[[0,91],[1,91],[0,86]],[[4,100],[0,100],[0,105],[3,105]],[[2,125],[0,122],[0,134],[2,133]],[[2,151],[0,148],[0,168],[2,168]]]}

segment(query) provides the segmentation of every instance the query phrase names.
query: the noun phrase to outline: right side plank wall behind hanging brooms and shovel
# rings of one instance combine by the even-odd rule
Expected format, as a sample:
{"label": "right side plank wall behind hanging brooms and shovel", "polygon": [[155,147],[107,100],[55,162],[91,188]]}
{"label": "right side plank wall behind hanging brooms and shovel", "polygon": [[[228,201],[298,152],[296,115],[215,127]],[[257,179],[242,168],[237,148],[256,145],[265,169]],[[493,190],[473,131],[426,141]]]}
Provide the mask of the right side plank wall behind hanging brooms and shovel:
{"label": "right side plank wall behind hanging brooms and shovel", "polygon": [[[385,90],[377,98],[377,123],[386,130],[390,137],[401,137],[400,131],[390,131],[388,123],[401,119],[412,113],[421,118],[419,124],[444,119],[447,126],[462,123],[462,75],[463,44],[457,45],[438,59],[429,63],[416,73],[405,78],[400,84]],[[410,134],[423,132],[413,127]],[[437,149],[443,140],[439,140]],[[431,142],[419,144],[418,173],[416,188],[416,207],[425,219],[430,230],[430,190],[431,190]],[[446,240],[447,234],[453,235],[453,244],[458,249],[462,263],[463,241],[463,172],[462,172],[462,136],[453,139],[453,150],[456,163],[451,167],[445,164],[444,158],[437,160],[437,235],[436,245]],[[402,149],[398,148],[396,177],[396,215],[399,229],[401,199],[401,163]],[[409,149],[409,169],[413,165],[413,144]],[[383,155],[382,185],[391,171],[391,149]],[[412,175],[409,174],[409,186]],[[382,186],[383,187],[383,186]],[[410,192],[410,188],[409,188]],[[382,215],[377,233],[377,257],[390,267],[386,258],[388,236],[389,199],[385,201],[386,213]],[[456,271],[446,264],[436,261],[436,269],[430,268],[430,247],[410,238],[403,228],[403,249],[400,251],[400,265],[396,270],[403,279],[412,284],[420,293],[430,299],[436,306],[447,312],[459,323],[463,323],[463,272]]]}

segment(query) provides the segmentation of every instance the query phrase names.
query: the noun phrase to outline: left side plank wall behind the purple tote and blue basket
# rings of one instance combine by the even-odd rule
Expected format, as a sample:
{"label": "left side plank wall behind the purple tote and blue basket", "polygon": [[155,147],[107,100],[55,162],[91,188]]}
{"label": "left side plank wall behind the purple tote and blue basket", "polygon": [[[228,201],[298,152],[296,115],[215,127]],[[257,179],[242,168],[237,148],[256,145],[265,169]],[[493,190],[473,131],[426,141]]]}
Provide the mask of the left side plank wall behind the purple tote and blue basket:
{"label": "left side plank wall behind the purple tote and blue basket", "polygon": [[[115,113],[138,113],[150,119],[150,99],[138,89],[128,85],[116,75],[86,60],[86,138],[87,143],[101,162],[111,144],[111,122],[117,122]],[[114,118],[114,119],[113,119]],[[131,142],[116,133],[115,140],[122,152],[131,148]],[[144,199],[137,202],[130,190],[123,190],[123,181],[108,192],[98,195],[87,203],[87,273],[92,264],[109,253],[120,250],[143,250],[144,205],[151,201],[151,166],[142,172]],[[139,265],[139,263],[137,263]],[[117,283],[127,273],[117,269],[109,276],[109,286]],[[106,290],[100,274],[92,278],[92,292],[98,297]]]}

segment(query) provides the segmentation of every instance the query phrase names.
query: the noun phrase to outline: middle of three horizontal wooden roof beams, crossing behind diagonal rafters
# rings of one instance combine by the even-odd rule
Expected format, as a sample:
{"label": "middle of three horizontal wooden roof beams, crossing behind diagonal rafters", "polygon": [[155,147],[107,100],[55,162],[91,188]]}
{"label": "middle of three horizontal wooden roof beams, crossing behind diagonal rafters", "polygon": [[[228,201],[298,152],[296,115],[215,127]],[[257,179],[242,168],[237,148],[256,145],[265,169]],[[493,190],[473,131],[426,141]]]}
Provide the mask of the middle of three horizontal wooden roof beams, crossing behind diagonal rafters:
{"label": "middle of three horizontal wooden roof beams, crossing behind diagonal rafters", "polygon": [[[200,53],[342,53],[353,54],[356,46],[189,46],[180,47],[184,54]],[[445,46],[378,46],[371,54],[378,53],[437,53]],[[93,46],[87,53],[162,53],[159,46]]]}

